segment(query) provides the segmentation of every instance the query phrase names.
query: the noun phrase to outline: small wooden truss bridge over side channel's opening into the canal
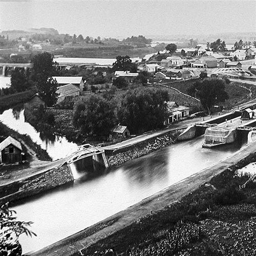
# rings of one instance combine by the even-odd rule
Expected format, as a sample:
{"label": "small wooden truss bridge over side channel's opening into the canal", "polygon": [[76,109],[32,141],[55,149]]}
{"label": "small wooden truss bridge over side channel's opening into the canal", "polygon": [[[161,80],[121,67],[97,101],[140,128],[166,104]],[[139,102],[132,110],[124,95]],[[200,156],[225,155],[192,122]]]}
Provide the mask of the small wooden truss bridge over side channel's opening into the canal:
{"label": "small wooden truss bridge over side channel's opening into the canal", "polygon": [[109,167],[108,161],[105,157],[105,151],[102,148],[92,146],[91,144],[78,146],[77,152],[73,153],[67,159],[66,163],[74,163],[84,158],[90,158],[90,160],[94,160],[106,168]]}

